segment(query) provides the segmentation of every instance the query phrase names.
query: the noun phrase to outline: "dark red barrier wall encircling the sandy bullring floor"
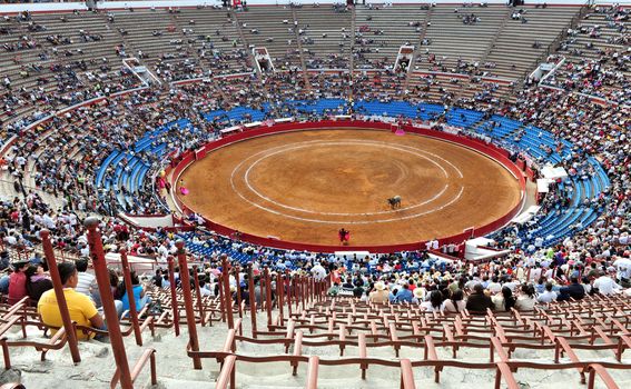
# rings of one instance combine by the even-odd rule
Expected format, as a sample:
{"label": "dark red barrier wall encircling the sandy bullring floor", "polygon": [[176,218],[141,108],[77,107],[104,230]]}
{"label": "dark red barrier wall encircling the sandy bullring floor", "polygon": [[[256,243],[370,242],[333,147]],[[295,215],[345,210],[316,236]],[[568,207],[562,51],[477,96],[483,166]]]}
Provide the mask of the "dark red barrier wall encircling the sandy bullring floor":
{"label": "dark red barrier wall encircling the sandy bullring floor", "polygon": [[[208,153],[213,150],[216,150],[216,149],[219,149],[221,147],[231,144],[234,142],[238,142],[238,141],[249,139],[249,138],[255,138],[255,137],[263,137],[263,136],[267,136],[267,134],[270,134],[270,133],[303,131],[303,130],[321,130],[321,129],[325,129],[325,128],[339,128],[339,127],[359,128],[359,129],[377,129],[377,130],[385,130],[385,131],[392,130],[391,123],[384,123],[384,122],[378,122],[378,121],[372,122],[372,121],[362,121],[362,120],[323,120],[323,121],[316,121],[316,122],[285,122],[285,123],[276,123],[276,124],[269,126],[269,127],[257,127],[257,128],[253,128],[250,130],[244,131],[244,132],[233,133],[233,134],[229,134],[229,136],[227,136],[223,139],[207,143],[204,147],[204,149],[205,149],[205,152]],[[426,137],[441,139],[441,140],[444,140],[444,141],[454,142],[454,143],[471,148],[475,151],[479,151],[479,152],[481,152],[481,153],[483,153],[483,154],[485,154],[490,158],[493,158],[499,163],[501,163],[506,169],[509,169],[513,173],[513,176],[516,178],[516,180],[520,182],[520,187],[521,187],[521,191],[522,191],[522,200],[523,200],[524,191],[525,191],[525,178],[522,174],[521,169],[517,166],[515,166],[509,159],[510,153],[506,150],[501,149],[501,148],[499,148],[494,144],[490,144],[490,143],[486,143],[484,141],[477,140],[477,139],[455,136],[455,134],[452,134],[452,133],[431,130],[428,128],[413,127],[413,126],[408,126],[408,124],[401,124],[401,128],[404,129],[407,132],[413,132],[413,133],[417,133],[417,134],[421,134],[421,136],[426,136]],[[195,161],[195,154],[197,152],[199,152],[199,150],[189,151],[187,154],[184,156],[183,160],[180,162],[178,162],[178,164],[174,168],[174,176],[172,177],[176,180],[176,182],[174,182],[174,188],[177,188],[177,186],[176,186],[177,180],[178,180],[179,176],[181,174],[181,172],[190,163],[193,163]],[[176,194],[175,200],[177,201],[178,206],[180,206],[180,208],[185,212],[190,212],[190,210],[181,202],[181,200],[178,198],[177,194]],[[484,235],[490,233],[492,231],[495,231],[500,227],[506,225],[512,218],[515,217],[515,215],[520,211],[521,207],[522,207],[522,201],[520,201],[515,207],[513,207],[513,209],[511,209],[502,218],[500,218],[500,219],[497,219],[493,222],[490,222],[485,226],[477,226],[475,228],[475,231],[474,231],[475,236],[484,236]],[[211,220],[208,220],[207,218],[205,218],[205,220],[206,220],[206,227],[210,230],[214,230],[217,233],[230,236],[235,232],[234,229],[228,228],[226,226],[215,223]],[[253,245],[273,247],[273,248],[278,248],[278,249],[302,250],[302,251],[306,250],[306,251],[315,251],[315,252],[334,252],[334,251],[339,251],[339,249],[342,248],[341,246],[309,245],[309,243],[302,243],[302,242],[292,242],[292,241],[285,241],[285,240],[269,239],[269,238],[258,237],[258,236],[244,233],[244,232],[240,232],[240,233],[241,233],[241,240],[244,240],[244,241],[250,242]],[[445,243],[460,245],[464,240],[470,239],[470,238],[471,238],[471,231],[466,231],[466,232],[459,233],[459,235],[451,236],[451,237],[443,237],[443,238],[438,239],[438,241],[440,241],[440,245],[445,245]],[[364,251],[371,251],[371,252],[410,251],[410,250],[425,249],[425,241],[418,241],[418,242],[413,242],[413,243],[404,243],[404,245],[388,245],[388,246],[347,246],[347,247],[344,247],[344,249],[364,250]]]}

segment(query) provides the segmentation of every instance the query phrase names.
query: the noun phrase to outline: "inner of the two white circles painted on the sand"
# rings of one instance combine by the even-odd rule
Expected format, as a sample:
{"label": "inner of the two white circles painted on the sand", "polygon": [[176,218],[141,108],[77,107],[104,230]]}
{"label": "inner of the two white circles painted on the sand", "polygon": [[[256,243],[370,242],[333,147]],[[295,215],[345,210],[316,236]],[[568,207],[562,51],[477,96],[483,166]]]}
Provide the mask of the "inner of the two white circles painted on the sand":
{"label": "inner of the two white circles painted on the sand", "polygon": [[[400,208],[400,209],[396,209],[396,210],[377,211],[377,212],[362,212],[362,213],[348,213],[348,212],[321,212],[321,211],[313,211],[313,210],[308,210],[308,209],[304,209],[304,208],[287,206],[287,205],[284,205],[284,203],[282,203],[282,202],[279,202],[279,201],[276,201],[276,200],[274,200],[274,199],[272,199],[272,198],[269,198],[269,197],[267,197],[267,196],[260,193],[260,191],[258,191],[256,188],[254,188],[254,186],[249,182],[249,173],[250,173],[252,169],[253,169],[256,164],[258,164],[260,161],[263,161],[264,159],[269,158],[269,157],[273,157],[273,156],[275,156],[275,154],[278,154],[278,153],[282,153],[282,152],[286,152],[286,151],[292,151],[292,150],[297,150],[297,149],[303,149],[303,148],[312,147],[312,146],[314,146],[314,144],[317,144],[317,146],[346,146],[346,144],[357,144],[357,143],[358,143],[358,144],[366,144],[366,146],[375,146],[375,147],[386,147],[386,148],[395,149],[395,150],[397,150],[397,151],[403,151],[403,152],[412,153],[412,154],[414,154],[414,156],[416,156],[416,157],[420,157],[420,158],[423,158],[423,159],[427,160],[430,163],[435,164],[438,169],[441,169],[441,171],[443,172],[443,174],[445,176],[445,178],[448,178],[448,177],[450,177],[450,174],[447,173],[447,171],[446,171],[440,163],[437,163],[437,162],[435,162],[435,161],[431,160],[430,158],[427,158],[427,157],[425,157],[425,156],[422,154],[422,153],[430,153],[430,152],[424,151],[424,150],[418,150],[418,149],[416,149],[416,148],[412,148],[412,147],[405,147],[405,148],[404,148],[404,144],[392,144],[392,143],[387,143],[387,142],[373,142],[373,141],[363,141],[363,140],[356,140],[356,141],[349,141],[349,140],[344,140],[344,141],[322,141],[322,140],[321,140],[321,141],[307,141],[307,142],[298,142],[298,143],[295,143],[295,144],[297,144],[297,146],[287,146],[287,144],[285,144],[285,146],[280,146],[280,147],[267,149],[267,150],[264,150],[264,151],[259,151],[259,152],[257,152],[257,153],[255,153],[255,154],[248,157],[246,160],[248,160],[248,159],[250,159],[250,158],[254,158],[254,157],[256,157],[256,156],[259,156],[259,154],[262,154],[262,153],[265,153],[266,151],[275,150],[274,152],[270,152],[270,153],[268,153],[268,154],[265,154],[265,156],[258,158],[254,163],[252,163],[252,164],[248,167],[248,169],[246,170],[246,173],[245,173],[245,182],[246,182],[246,186],[247,186],[247,188],[248,188],[250,191],[253,191],[256,196],[258,196],[259,198],[262,198],[262,199],[264,199],[264,200],[266,200],[266,201],[268,201],[268,202],[270,202],[270,203],[273,203],[273,205],[275,205],[275,206],[277,206],[277,207],[282,207],[282,208],[285,208],[285,209],[290,209],[290,210],[294,210],[294,211],[305,212],[305,213],[313,213],[313,215],[331,215],[331,216],[374,216],[374,215],[385,215],[385,213],[401,212],[401,211],[405,211],[405,210],[408,210],[408,209],[418,208],[418,207],[425,206],[425,205],[427,205],[427,203],[430,203],[430,202],[432,202],[432,201],[435,201],[435,200],[438,199],[441,196],[443,196],[443,193],[447,190],[448,184],[445,183],[445,184],[443,186],[443,188],[441,189],[441,191],[437,192],[436,194],[434,194],[432,198],[430,198],[430,199],[427,199],[427,200],[425,200],[425,201],[422,201],[422,202],[420,202],[420,203],[415,203],[415,205],[412,205],[412,206],[408,206],[408,207],[405,207],[405,208]],[[401,147],[400,147],[400,146],[401,146]],[[443,158],[441,158],[441,157],[438,157],[438,156],[436,156],[436,154],[433,154],[433,153],[430,153],[430,154],[432,154],[432,157],[437,158],[437,159],[441,159],[441,160],[445,161],[446,163],[448,163],[450,166],[452,166],[452,167],[456,170],[456,172],[459,173],[459,176],[462,178],[462,172],[460,171],[460,169],[457,169],[457,168],[456,168],[455,166],[453,166],[451,162],[444,160]],[[233,172],[231,172],[231,174],[230,174],[230,184],[233,186],[233,189],[236,188],[236,186],[234,184],[234,177],[235,177],[235,173],[236,173],[236,171],[243,166],[243,163],[244,163],[246,160],[244,160],[244,161],[241,161],[239,164],[237,164],[237,167],[235,167],[235,169],[233,170]],[[236,191],[238,192],[238,190],[236,190]]]}

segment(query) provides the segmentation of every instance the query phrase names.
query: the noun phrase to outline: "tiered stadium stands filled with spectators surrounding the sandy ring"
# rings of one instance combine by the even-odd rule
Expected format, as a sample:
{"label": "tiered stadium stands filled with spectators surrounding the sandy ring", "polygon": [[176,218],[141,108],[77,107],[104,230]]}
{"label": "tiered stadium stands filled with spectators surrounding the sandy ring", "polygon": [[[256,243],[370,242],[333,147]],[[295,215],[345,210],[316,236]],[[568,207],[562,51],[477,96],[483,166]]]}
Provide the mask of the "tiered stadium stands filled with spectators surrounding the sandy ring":
{"label": "tiered stadium stands filled with spectators surrounding the sandy ring", "polygon": [[[629,387],[631,8],[521,3],[1,3],[1,388]],[[333,121],[530,194],[374,251],[187,206],[200,150]]]}

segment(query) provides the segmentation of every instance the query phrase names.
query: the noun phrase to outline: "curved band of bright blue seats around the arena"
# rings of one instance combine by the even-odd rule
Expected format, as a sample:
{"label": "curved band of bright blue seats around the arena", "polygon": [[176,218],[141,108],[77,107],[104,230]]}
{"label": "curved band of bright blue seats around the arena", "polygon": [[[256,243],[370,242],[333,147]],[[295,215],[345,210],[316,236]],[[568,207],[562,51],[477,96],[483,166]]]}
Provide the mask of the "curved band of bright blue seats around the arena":
{"label": "curved band of bright blue seats around the arena", "polygon": [[[477,132],[490,137],[494,142],[507,147],[513,150],[522,150],[529,153],[540,163],[551,162],[556,164],[572,152],[572,143],[561,140],[562,149],[556,151],[556,140],[554,134],[531,124],[524,124],[520,121],[512,120],[497,114],[484,119],[485,113],[462,108],[445,108],[441,104],[418,103],[413,104],[405,101],[379,102],[379,101],[346,101],[342,99],[321,99],[315,101],[295,100],[284,101],[277,104],[265,103],[263,109],[252,109],[247,107],[237,107],[231,110],[216,110],[204,114],[205,120],[215,122],[220,127],[236,126],[244,121],[260,121],[276,114],[280,117],[283,113],[296,114],[345,114],[353,109],[356,113],[405,117],[422,120],[435,120],[440,117],[445,118],[450,126],[460,127],[469,131]],[[285,116],[286,117],[286,116]],[[119,189],[125,186],[130,193],[134,193],[144,187],[147,172],[150,167],[136,157],[137,153],[145,151],[161,157],[171,150],[167,150],[166,143],[157,141],[159,136],[166,132],[172,126],[177,124],[179,131],[198,131],[190,124],[188,119],[180,119],[170,122],[161,128],[146,133],[139,139],[132,152],[130,150],[114,150],[103,159],[96,177],[97,188],[109,190],[110,188]],[[542,147],[548,147],[552,152],[546,152]],[[121,166],[122,158],[127,158],[129,169],[127,171]],[[529,243],[541,237],[545,243],[552,245],[559,242],[563,238],[575,231],[576,225],[580,222],[582,227],[593,222],[601,210],[592,209],[585,206],[585,199],[598,197],[609,184],[609,178],[601,164],[593,158],[588,159],[588,163],[595,171],[593,177],[581,179],[580,174],[569,178],[564,184],[574,188],[573,198],[570,206],[558,207],[548,216],[538,216],[540,219],[535,228],[531,228],[523,236],[524,243]],[[116,167],[114,178],[105,179],[108,167]],[[132,196],[122,196],[118,192],[120,203],[125,201],[134,201]]]}

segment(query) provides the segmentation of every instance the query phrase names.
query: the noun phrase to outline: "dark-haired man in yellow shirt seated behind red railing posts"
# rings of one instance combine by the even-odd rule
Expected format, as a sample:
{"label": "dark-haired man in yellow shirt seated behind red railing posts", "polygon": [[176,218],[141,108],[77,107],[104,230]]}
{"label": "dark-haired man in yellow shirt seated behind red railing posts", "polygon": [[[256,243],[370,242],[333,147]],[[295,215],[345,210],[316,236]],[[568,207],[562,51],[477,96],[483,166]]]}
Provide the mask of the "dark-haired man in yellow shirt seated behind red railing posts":
{"label": "dark-haired man in yellow shirt seated behind red railing posts", "polygon": [[[63,283],[63,295],[66,296],[66,303],[70,312],[70,320],[76,321],[78,326],[93,327],[103,329],[103,319],[97,311],[97,307],[90,298],[83,293],[75,291],[79,282],[79,273],[73,262],[59,263],[59,277]],[[41,295],[37,305],[37,310],[41,316],[41,321],[50,327],[61,328],[63,321],[61,320],[61,312],[57,303],[57,296],[55,289],[46,291]],[[56,331],[51,331],[55,333]],[[77,339],[87,340],[93,338],[93,333],[86,335],[83,331],[77,331]]]}

